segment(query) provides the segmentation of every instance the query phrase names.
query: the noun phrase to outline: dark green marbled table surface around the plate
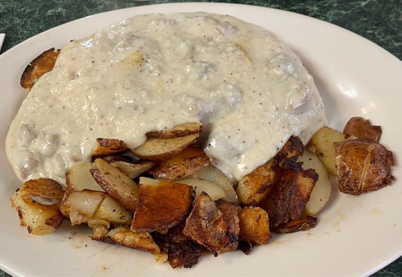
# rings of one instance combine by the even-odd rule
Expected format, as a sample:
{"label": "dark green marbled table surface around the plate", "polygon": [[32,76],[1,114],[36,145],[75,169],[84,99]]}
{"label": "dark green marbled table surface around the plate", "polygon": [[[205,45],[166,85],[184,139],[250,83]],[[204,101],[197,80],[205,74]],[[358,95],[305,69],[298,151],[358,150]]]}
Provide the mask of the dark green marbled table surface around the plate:
{"label": "dark green marbled table surface around the plate", "polygon": [[[187,1],[0,0],[0,33],[6,33],[0,54],[33,35],[74,19],[108,10],[174,2]],[[219,2],[278,8],[328,21],[366,37],[402,60],[401,0],[226,0]],[[0,277],[3,276],[9,275],[0,270]],[[402,258],[392,262],[373,276],[402,276]]]}

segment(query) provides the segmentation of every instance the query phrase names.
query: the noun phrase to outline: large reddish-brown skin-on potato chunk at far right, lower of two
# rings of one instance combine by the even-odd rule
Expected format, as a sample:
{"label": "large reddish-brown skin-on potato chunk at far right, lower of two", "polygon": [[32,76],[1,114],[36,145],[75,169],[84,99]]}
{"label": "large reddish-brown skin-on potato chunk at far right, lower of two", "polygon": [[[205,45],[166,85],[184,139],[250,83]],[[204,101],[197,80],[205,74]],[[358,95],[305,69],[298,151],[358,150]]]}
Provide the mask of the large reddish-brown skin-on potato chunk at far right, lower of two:
{"label": "large reddish-brown skin-on potato chunk at far right, lower of two", "polygon": [[335,143],[338,186],[342,193],[359,195],[392,184],[392,152],[367,141]]}

